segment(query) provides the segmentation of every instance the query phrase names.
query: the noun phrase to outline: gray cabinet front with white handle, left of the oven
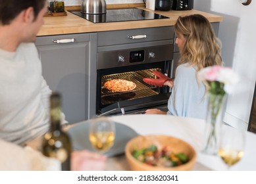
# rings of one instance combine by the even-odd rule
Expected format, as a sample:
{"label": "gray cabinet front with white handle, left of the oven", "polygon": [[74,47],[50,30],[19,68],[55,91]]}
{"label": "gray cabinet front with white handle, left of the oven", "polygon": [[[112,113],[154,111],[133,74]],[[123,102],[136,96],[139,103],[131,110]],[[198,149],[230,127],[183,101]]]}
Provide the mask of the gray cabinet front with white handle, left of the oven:
{"label": "gray cabinet front with white handle, left of the oven", "polygon": [[43,77],[63,96],[66,120],[72,124],[88,119],[95,111],[89,108],[96,90],[90,87],[89,78],[96,78],[97,34],[39,36],[36,47]]}

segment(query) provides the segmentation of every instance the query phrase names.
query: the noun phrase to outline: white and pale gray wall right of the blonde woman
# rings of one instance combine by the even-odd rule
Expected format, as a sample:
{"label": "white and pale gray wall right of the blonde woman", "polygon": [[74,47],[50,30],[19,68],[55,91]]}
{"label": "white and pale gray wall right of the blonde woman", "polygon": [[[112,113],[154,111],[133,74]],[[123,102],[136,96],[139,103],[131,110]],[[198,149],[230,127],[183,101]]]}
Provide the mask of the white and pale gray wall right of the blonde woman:
{"label": "white and pale gray wall right of the blonde woman", "polygon": [[243,6],[238,0],[195,0],[194,9],[223,16],[219,37],[222,58],[240,75],[240,82],[229,95],[224,122],[247,129],[256,80],[256,1]]}

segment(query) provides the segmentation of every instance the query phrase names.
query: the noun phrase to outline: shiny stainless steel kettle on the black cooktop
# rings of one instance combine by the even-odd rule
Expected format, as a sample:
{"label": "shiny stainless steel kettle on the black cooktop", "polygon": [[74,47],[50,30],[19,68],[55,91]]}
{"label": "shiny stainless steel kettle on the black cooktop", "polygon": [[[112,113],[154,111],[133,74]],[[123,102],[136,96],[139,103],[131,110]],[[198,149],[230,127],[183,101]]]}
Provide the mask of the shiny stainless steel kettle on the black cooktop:
{"label": "shiny stainless steel kettle on the black cooktop", "polygon": [[87,14],[103,14],[106,13],[105,0],[82,0],[81,12]]}

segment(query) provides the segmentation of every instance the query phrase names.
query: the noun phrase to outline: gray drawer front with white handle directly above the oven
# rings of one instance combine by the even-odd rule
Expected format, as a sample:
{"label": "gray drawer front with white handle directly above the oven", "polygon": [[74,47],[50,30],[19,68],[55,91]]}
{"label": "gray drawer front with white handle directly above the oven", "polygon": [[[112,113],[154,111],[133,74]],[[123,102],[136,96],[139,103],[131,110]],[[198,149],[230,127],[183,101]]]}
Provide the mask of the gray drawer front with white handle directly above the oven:
{"label": "gray drawer front with white handle directly above the oven", "polygon": [[[141,39],[131,39],[128,37],[135,35],[147,35],[147,37]],[[166,39],[174,39],[173,26],[99,32],[98,47],[126,43],[140,43],[145,41],[161,41]]]}

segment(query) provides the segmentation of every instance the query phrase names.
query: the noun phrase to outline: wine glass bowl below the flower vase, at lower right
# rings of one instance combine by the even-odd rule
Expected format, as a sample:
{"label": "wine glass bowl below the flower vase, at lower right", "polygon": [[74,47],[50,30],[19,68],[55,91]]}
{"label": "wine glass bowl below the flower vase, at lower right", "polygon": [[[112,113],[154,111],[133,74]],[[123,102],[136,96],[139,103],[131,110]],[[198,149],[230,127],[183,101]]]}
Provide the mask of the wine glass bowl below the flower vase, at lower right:
{"label": "wine glass bowl below the flower vase, at lower right", "polygon": [[218,155],[228,166],[228,170],[243,157],[244,145],[245,133],[242,130],[226,125],[222,126]]}

